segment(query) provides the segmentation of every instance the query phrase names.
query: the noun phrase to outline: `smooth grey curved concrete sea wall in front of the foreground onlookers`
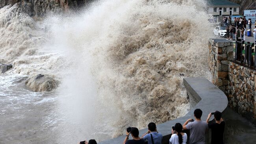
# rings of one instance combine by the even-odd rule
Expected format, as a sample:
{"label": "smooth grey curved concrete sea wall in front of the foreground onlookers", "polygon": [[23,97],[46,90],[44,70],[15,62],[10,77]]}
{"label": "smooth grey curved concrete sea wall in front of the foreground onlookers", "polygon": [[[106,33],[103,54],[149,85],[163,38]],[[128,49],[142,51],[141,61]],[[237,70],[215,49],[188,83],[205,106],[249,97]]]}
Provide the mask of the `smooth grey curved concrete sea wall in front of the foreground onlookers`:
{"label": "smooth grey curved concrete sea wall in front of the foreground onlookers", "polygon": [[[216,110],[223,112],[227,105],[228,99],[226,95],[217,86],[213,85],[210,81],[205,78],[185,78],[184,85],[189,95],[189,100],[193,101],[191,105],[193,108],[184,116],[172,121],[164,122],[157,125],[157,130],[163,134],[162,144],[169,144],[171,137],[171,126],[177,122],[183,124],[187,119],[194,119],[194,110],[200,108],[203,111],[202,120],[206,120],[210,112]],[[211,120],[213,117],[211,117]],[[148,129],[145,128],[139,131],[139,135],[146,133]],[[122,144],[125,135],[109,139],[99,144]],[[130,136],[129,139],[132,139]]]}

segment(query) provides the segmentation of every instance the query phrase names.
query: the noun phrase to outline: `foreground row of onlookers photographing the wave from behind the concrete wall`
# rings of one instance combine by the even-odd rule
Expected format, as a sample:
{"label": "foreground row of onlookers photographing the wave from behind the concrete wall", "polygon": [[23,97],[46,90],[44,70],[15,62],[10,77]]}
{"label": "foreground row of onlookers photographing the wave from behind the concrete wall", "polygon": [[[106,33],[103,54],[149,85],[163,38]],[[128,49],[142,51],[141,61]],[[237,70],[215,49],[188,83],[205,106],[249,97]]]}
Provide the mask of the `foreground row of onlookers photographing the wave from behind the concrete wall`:
{"label": "foreground row of onlookers photographing the wave from behind the concrete wall", "polygon": [[[209,122],[211,115],[214,115],[215,122]],[[194,111],[195,121],[188,119],[183,125],[176,123],[174,126],[170,126],[171,138],[169,139],[169,144],[186,144],[187,134],[183,130],[190,131],[189,144],[205,144],[205,134],[208,129],[211,129],[211,144],[224,144],[225,122],[221,118],[221,112],[209,113],[206,121],[202,121],[201,116],[202,110],[196,109]],[[129,140],[129,135],[132,136],[132,140]],[[148,124],[148,131],[141,137],[139,137],[138,128],[127,128],[123,144],[145,144],[146,140],[148,144],[162,144],[163,135],[157,131],[154,122]],[[95,140],[89,140],[89,142],[85,140],[78,144],[97,144],[97,142]]]}

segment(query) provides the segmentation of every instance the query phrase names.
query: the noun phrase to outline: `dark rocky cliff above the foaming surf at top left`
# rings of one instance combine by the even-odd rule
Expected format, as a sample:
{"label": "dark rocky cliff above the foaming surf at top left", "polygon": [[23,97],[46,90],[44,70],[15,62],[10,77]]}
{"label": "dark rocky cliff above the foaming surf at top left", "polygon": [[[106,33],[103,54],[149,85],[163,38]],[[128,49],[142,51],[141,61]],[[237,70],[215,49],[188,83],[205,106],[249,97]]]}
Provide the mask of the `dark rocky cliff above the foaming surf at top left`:
{"label": "dark rocky cliff above the foaming surf at top left", "polygon": [[92,0],[0,0],[0,8],[18,3],[19,11],[30,16],[42,17],[47,13],[60,13],[77,10]]}

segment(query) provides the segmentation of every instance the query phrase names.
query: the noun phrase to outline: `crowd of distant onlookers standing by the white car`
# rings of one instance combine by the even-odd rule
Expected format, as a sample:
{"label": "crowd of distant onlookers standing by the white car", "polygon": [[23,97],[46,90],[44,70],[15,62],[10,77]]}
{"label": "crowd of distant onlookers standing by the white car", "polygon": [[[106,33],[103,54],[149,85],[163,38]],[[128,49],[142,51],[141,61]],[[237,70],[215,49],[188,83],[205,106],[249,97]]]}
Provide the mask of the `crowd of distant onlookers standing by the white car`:
{"label": "crowd of distant onlookers standing by the white car", "polygon": [[[226,26],[226,36],[227,40],[238,40],[241,39],[242,41],[245,41],[245,35],[247,32],[247,25],[248,25],[248,31],[253,32],[254,40],[256,43],[256,26],[255,29],[252,30],[252,20],[249,18],[248,20],[246,19],[245,16],[236,18],[234,17],[234,24],[232,24],[232,19],[229,16],[223,18],[223,23]],[[236,37],[235,37],[236,35]]]}

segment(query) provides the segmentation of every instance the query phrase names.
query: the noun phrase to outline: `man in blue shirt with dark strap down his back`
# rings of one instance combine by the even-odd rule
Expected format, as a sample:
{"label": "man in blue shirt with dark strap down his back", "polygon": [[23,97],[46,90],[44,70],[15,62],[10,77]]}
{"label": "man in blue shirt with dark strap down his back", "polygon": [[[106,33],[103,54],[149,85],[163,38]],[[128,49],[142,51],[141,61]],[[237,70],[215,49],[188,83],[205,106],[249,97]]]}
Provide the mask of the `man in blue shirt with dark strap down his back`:
{"label": "man in blue shirt with dark strap down his back", "polygon": [[150,122],[148,124],[148,131],[142,135],[141,139],[148,140],[148,144],[161,144],[163,135],[156,130],[156,124]]}

